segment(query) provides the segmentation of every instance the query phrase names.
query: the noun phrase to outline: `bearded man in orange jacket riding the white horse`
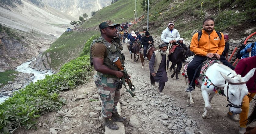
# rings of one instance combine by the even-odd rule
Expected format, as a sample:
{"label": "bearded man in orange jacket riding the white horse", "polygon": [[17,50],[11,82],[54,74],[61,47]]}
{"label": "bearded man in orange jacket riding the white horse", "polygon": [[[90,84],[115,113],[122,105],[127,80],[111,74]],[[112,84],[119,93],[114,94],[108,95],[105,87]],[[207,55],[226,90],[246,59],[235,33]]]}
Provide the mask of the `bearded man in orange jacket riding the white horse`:
{"label": "bearded man in orange jacket riding the white horse", "polygon": [[[195,53],[195,57],[187,66],[187,76],[190,81],[190,86],[187,87],[187,92],[192,92],[195,89],[194,78],[198,77],[198,72],[200,72],[202,62],[204,62],[205,58],[217,58],[224,65],[230,67],[231,69],[235,69],[224,56],[221,56],[224,48],[225,41],[223,33],[221,33],[221,39],[219,35],[214,30],[214,19],[206,18],[203,22],[203,30],[200,40],[198,41],[198,33],[195,33],[192,37],[190,50]],[[198,72],[196,72],[196,69]],[[194,77],[194,74],[196,76]]]}

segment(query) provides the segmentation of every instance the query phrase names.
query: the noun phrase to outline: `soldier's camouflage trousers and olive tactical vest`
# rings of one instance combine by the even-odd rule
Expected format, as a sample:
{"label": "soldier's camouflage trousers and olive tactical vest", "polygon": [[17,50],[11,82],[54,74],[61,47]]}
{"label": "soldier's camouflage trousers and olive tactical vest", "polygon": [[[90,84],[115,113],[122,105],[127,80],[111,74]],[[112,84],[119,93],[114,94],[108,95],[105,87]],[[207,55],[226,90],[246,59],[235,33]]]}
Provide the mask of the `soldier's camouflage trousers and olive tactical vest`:
{"label": "soldier's camouflage trousers and olive tactical vest", "polygon": [[[124,65],[125,57],[121,52],[123,47],[119,38],[114,38],[112,43],[109,43],[103,37],[100,37],[93,41],[91,47],[95,43],[102,43],[107,48],[108,57],[104,58],[103,65],[106,65],[113,70],[119,70],[116,66],[113,65],[113,60],[116,57],[119,57],[122,65]],[[90,60],[92,65],[92,58]],[[101,72],[97,72],[94,76],[94,83],[98,88],[98,93],[102,100],[102,115],[105,118],[110,118],[112,117],[112,113],[117,113],[116,105],[120,99],[120,90],[117,89],[119,78],[117,78],[115,75],[102,74]]]}

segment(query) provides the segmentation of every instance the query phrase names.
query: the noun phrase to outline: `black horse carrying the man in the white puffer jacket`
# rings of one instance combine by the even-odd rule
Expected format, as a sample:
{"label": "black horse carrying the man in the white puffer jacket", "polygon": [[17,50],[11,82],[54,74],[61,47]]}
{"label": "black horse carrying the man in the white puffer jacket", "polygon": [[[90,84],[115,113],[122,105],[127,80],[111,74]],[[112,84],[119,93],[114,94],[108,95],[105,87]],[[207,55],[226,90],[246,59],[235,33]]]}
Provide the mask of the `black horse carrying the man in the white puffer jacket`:
{"label": "black horse carrying the man in the white puffer jacket", "polygon": [[[170,49],[169,54],[170,54],[169,61],[172,62],[172,65],[170,67],[170,72],[173,69],[173,74],[171,75],[171,78],[173,78],[174,75],[176,74],[176,80],[179,80],[178,73],[177,73],[177,70],[180,70],[179,68],[181,68],[181,66],[179,65],[184,59],[187,59],[187,57],[192,56],[193,53],[190,51],[189,48],[181,45],[176,47],[173,53],[171,53],[171,49]],[[177,65],[177,68],[175,68],[176,65]]]}

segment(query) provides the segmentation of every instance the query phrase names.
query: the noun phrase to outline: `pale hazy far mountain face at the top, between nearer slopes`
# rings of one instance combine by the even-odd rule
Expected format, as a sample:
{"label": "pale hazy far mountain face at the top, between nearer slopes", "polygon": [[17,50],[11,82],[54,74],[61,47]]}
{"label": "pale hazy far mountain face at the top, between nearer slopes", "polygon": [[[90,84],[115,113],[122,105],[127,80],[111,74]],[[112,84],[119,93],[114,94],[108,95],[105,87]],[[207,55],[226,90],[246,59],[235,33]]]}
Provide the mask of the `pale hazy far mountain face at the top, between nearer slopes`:
{"label": "pale hazy far mountain face at the top, between nearer slopes", "polygon": [[42,0],[45,5],[78,18],[84,13],[91,17],[92,11],[97,11],[111,4],[112,0]]}

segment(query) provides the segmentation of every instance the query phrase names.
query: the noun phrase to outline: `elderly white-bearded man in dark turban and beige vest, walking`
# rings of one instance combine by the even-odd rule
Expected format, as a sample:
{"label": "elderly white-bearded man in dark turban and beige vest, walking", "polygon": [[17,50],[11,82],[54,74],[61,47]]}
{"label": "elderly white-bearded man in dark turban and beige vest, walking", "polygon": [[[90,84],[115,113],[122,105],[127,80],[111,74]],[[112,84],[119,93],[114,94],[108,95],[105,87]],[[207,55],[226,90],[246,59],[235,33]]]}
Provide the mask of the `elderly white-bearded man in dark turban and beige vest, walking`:
{"label": "elderly white-bearded man in dark turban and beige vest, walking", "polygon": [[165,82],[168,81],[169,51],[166,51],[168,44],[163,43],[158,47],[159,50],[153,53],[149,61],[150,83],[155,86],[155,82],[158,82],[158,92],[164,95],[162,91],[165,87]]}

